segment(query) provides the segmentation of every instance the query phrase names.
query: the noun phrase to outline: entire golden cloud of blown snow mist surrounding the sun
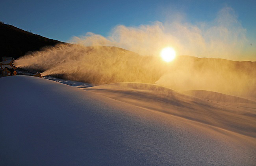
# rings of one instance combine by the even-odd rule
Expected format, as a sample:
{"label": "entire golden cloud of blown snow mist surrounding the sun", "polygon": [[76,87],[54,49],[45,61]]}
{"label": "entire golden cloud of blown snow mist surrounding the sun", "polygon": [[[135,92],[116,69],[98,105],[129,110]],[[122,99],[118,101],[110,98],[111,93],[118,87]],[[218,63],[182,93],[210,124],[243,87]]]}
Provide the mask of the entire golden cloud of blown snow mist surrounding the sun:
{"label": "entire golden cloud of blown snow mist surrounding the sun", "polygon": [[[108,37],[89,32],[70,42],[27,53],[15,66],[94,85],[144,82],[178,91],[256,97],[256,62],[223,60],[256,57],[256,51],[247,47],[246,29],[230,7],[219,11],[212,22],[191,24],[178,17],[139,27],[119,25]],[[173,62],[160,58],[166,46],[176,50]]]}

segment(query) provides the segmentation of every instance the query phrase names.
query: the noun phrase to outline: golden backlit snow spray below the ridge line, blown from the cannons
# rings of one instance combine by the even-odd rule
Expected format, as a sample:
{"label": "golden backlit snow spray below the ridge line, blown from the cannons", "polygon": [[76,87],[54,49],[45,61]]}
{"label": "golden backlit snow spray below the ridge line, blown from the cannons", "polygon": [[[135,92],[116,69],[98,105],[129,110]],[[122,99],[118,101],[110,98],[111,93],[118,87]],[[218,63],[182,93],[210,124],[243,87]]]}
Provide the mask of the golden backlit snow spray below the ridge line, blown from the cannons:
{"label": "golden backlit snow spray below the ridge line, blown from the cannons", "polygon": [[144,82],[178,91],[202,89],[256,97],[256,62],[249,61],[178,56],[166,63],[118,47],[59,44],[19,58],[15,66],[95,85]]}

